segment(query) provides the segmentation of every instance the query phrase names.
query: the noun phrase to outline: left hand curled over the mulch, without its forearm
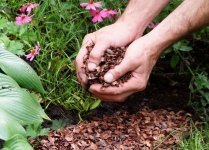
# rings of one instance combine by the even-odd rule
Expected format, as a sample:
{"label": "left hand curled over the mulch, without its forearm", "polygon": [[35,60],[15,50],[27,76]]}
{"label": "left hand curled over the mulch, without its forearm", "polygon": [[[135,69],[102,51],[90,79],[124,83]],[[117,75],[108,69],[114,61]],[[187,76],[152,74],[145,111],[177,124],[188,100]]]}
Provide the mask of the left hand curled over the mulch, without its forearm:
{"label": "left hand curled over the mulch, without its forearm", "polygon": [[85,87],[88,81],[85,71],[82,69],[84,65],[83,58],[87,54],[86,46],[94,44],[94,48],[89,55],[90,63],[88,64],[88,69],[93,71],[100,63],[100,59],[107,48],[125,46],[141,36],[143,32],[144,29],[140,31],[133,25],[117,22],[86,35],[75,61],[77,78],[81,85]]}

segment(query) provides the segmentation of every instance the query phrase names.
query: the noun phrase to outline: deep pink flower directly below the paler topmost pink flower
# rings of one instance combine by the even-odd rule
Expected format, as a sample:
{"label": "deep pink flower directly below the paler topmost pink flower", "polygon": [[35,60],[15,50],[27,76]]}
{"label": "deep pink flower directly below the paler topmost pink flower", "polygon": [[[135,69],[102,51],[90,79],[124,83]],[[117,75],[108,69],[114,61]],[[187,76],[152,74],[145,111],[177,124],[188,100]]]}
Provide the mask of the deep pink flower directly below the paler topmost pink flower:
{"label": "deep pink flower directly below the paler topmost pink flower", "polygon": [[90,14],[92,16],[92,22],[102,22],[105,18],[109,16],[108,12],[103,9],[101,11],[99,10],[90,10]]}

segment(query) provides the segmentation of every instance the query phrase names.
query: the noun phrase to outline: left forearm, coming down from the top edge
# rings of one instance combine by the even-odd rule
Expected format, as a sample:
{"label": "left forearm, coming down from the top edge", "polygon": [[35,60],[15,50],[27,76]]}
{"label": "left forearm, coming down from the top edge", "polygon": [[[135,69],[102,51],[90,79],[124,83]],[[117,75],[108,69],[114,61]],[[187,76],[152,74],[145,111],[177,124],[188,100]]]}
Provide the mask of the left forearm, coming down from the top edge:
{"label": "left forearm, coming down from the top edge", "polygon": [[139,37],[168,2],[169,0],[130,0],[125,12],[117,22],[128,24]]}

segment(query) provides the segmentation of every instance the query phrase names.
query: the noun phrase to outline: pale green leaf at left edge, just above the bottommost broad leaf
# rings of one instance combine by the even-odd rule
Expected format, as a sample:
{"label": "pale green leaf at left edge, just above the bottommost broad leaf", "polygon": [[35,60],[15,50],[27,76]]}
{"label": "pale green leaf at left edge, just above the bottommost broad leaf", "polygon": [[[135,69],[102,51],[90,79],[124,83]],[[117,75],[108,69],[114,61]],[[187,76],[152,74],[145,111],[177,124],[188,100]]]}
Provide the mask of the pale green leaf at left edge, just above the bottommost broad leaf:
{"label": "pale green leaf at left edge, just above the bottommost broad leaf", "polygon": [[1,109],[0,116],[0,139],[8,140],[15,134],[26,135],[25,129]]}

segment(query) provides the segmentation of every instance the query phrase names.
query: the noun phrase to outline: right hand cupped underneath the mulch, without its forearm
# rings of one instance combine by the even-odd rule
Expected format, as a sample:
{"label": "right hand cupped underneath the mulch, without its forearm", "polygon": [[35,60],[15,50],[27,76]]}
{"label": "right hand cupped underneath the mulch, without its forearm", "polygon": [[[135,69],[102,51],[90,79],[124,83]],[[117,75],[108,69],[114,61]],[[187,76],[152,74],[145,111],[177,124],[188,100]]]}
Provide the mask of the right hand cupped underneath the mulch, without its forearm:
{"label": "right hand cupped underneath the mulch, without its forearm", "polygon": [[113,82],[130,71],[133,77],[119,87],[101,88],[102,85],[93,84],[89,88],[90,92],[104,101],[122,102],[129,95],[143,91],[159,57],[156,48],[146,36],[134,41],[128,47],[123,61],[109,70],[104,79],[106,82]]}

